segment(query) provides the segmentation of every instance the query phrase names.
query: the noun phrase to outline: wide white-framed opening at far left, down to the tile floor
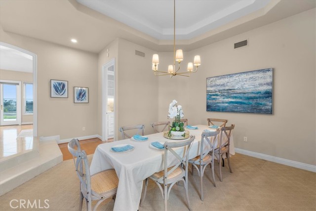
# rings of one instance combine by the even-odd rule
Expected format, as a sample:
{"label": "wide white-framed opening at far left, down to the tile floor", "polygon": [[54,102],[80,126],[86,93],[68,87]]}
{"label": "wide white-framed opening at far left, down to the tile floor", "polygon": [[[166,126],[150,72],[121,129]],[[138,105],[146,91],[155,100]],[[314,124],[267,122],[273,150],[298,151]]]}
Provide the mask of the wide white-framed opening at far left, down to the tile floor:
{"label": "wide white-framed opening at far left, down to the tile floor", "polygon": [[0,51],[0,126],[33,124],[37,136],[37,55],[5,42]]}

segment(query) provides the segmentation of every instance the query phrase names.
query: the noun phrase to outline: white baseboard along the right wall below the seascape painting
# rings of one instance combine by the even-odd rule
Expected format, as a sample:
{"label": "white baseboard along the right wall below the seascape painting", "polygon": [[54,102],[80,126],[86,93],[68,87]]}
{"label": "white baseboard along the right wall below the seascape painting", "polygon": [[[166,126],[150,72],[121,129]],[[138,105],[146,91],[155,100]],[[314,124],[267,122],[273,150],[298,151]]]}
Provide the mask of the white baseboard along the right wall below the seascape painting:
{"label": "white baseboard along the right wall below the seascape painting", "polygon": [[304,163],[300,163],[297,161],[291,161],[291,160],[278,158],[278,157],[271,156],[271,155],[265,155],[265,154],[251,152],[248,150],[238,149],[238,148],[235,148],[235,152],[243,154],[243,155],[255,157],[255,158],[260,158],[262,160],[271,161],[271,162],[274,162],[277,164],[283,164],[285,166],[290,166],[290,167],[294,167],[294,168],[298,168],[298,169],[304,169],[304,170],[316,172],[316,166],[310,165],[310,164],[304,164]]}

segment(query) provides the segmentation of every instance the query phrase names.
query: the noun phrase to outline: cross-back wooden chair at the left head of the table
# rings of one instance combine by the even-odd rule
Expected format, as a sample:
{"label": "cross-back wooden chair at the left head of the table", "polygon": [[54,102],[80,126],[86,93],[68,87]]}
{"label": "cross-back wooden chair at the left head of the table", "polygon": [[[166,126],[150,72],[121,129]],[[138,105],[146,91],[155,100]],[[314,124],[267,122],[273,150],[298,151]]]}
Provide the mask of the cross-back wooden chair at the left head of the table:
{"label": "cross-back wooden chair at the left head of the table", "polygon": [[[92,201],[98,200],[93,208],[97,207],[107,198],[115,196],[118,190],[118,176],[115,169],[107,169],[90,175],[87,154],[81,151],[78,139],[68,143],[68,150],[74,157],[76,172],[80,181],[79,210],[82,210],[83,198],[87,203],[87,211],[92,211]],[[77,158],[75,161],[75,157]]]}

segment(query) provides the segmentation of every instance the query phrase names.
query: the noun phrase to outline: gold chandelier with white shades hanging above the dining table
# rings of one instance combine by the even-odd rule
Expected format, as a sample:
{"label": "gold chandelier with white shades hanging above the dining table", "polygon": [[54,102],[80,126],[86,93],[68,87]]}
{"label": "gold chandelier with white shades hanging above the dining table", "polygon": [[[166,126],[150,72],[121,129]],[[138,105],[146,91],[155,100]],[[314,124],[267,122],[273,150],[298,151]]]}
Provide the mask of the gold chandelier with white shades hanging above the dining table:
{"label": "gold chandelier with white shades hanging above the dining table", "polygon": [[[168,72],[165,71],[158,71],[158,64],[159,64],[159,56],[158,54],[153,55],[153,67],[155,76],[170,76],[172,78],[173,76],[179,75],[179,76],[186,76],[189,77],[191,73],[197,72],[198,66],[201,64],[201,59],[199,55],[194,57],[194,63],[189,62],[188,63],[188,72],[178,72],[180,70],[180,63],[183,60],[183,52],[181,49],[178,49],[176,51],[176,2],[173,0],[173,65],[168,66]],[[179,67],[176,70],[176,62],[178,62]],[[193,65],[196,66],[196,70],[193,70]]]}

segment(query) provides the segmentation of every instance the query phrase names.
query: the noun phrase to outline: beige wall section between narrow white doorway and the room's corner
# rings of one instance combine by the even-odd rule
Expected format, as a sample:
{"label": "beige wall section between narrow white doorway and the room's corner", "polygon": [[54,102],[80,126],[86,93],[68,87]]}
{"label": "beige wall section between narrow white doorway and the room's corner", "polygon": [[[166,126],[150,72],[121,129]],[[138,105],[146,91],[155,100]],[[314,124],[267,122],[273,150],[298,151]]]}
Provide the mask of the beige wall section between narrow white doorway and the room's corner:
{"label": "beige wall section between narrow white doorway and the room's corner", "polygon": [[[135,55],[135,50],[144,52],[145,57]],[[158,121],[159,90],[158,79],[151,70],[154,53],[141,45],[118,40],[118,127],[144,124],[145,134],[154,132],[150,124]],[[121,139],[120,134],[117,137]]]}

